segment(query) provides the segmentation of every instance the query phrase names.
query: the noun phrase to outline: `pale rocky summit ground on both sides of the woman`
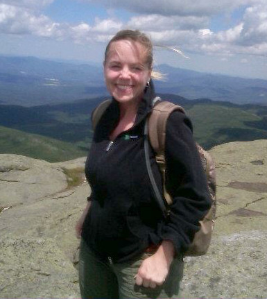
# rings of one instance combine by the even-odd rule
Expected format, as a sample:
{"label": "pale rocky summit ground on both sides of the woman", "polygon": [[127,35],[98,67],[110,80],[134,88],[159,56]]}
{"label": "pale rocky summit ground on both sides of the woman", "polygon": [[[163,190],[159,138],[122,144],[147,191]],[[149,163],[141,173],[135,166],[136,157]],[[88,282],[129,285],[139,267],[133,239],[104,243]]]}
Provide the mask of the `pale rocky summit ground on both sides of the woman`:
{"label": "pale rocky summit ground on both sides of the woman", "polygon": [[[216,146],[218,207],[207,255],[185,259],[184,298],[267,298],[267,140]],[[74,225],[85,158],[0,155],[0,298],[79,298]]]}

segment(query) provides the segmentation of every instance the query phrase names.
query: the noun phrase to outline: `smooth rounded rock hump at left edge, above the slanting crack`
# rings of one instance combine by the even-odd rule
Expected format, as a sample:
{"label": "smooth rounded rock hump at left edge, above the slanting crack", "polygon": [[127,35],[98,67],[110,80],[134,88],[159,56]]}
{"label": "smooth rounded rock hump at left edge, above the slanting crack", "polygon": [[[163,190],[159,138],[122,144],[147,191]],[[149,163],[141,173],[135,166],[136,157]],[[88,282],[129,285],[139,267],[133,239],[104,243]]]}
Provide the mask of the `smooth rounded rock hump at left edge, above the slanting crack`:
{"label": "smooth rounded rock hump at left edge, above the slanting crack", "polygon": [[21,155],[0,155],[1,207],[30,204],[66,187],[60,167]]}

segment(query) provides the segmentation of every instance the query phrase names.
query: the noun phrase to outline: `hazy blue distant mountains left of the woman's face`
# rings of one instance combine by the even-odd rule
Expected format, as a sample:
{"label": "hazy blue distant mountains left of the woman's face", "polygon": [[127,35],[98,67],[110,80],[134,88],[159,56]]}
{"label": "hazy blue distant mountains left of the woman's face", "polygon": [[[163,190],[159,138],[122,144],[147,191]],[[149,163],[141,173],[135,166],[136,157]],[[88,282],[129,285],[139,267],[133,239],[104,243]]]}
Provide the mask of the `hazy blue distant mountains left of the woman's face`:
{"label": "hazy blue distant mountains left of the woman's face", "polygon": [[0,55],[0,103],[65,103],[107,94],[103,87],[100,67]]}

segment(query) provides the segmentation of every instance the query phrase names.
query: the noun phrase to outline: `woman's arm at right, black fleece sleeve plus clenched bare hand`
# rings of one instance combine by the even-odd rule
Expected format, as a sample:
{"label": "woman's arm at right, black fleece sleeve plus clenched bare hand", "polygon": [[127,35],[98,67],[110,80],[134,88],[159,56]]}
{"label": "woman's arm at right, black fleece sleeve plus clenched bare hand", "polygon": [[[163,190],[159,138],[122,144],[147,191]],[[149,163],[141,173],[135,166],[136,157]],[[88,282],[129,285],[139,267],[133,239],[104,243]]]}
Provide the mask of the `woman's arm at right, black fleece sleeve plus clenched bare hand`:
{"label": "woman's arm at right, black fleece sleeve plus clenched bare hand", "polygon": [[166,188],[173,198],[169,221],[157,252],[142,262],[136,283],[156,287],[164,283],[175,255],[182,255],[199,230],[211,204],[189,119],[173,112],[166,128]]}

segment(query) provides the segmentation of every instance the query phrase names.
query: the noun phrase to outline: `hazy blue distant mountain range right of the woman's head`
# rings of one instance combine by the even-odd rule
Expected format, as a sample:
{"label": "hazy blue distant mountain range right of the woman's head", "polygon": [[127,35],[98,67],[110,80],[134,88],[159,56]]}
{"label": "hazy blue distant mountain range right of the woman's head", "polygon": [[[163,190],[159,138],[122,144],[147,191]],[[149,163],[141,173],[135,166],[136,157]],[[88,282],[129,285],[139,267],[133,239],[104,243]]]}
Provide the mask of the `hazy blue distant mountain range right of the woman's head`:
{"label": "hazy blue distant mountain range right of the woman's head", "polygon": [[187,99],[267,105],[267,80],[205,74],[169,65],[160,65],[159,69],[166,74],[165,82],[157,82],[160,92],[179,94]]}

